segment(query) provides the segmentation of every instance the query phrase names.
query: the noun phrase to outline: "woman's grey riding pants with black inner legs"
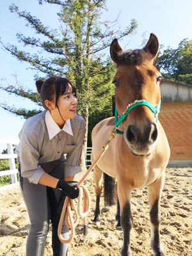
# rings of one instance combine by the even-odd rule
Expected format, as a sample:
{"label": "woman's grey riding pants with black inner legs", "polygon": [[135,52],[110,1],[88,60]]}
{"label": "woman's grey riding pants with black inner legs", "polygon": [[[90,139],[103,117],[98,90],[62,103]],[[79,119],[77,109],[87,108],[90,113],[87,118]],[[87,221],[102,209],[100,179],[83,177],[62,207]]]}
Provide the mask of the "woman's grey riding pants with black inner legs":
{"label": "woman's grey riding pants with black inner legs", "polygon": [[[19,168],[20,169],[20,166]],[[20,171],[20,170],[19,170]],[[63,244],[58,239],[57,230],[60,213],[57,212],[61,201],[61,192],[41,184],[29,183],[28,179],[20,176],[20,189],[28,209],[31,221],[26,256],[43,256],[49,222],[52,223],[52,250],[54,256],[66,256],[68,244]],[[68,239],[68,227],[63,222],[62,235]]]}

